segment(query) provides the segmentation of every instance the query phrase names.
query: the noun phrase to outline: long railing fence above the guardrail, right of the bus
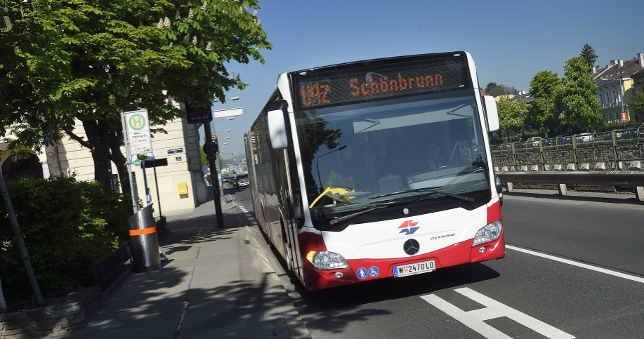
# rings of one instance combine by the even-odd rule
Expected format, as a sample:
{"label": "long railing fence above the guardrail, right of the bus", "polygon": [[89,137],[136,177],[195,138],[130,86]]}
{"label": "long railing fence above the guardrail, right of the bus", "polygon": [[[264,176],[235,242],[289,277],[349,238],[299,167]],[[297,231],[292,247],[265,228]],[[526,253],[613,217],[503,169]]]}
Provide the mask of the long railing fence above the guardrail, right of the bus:
{"label": "long railing fence above the guardrail, right of the bus", "polygon": [[492,146],[495,171],[641,171],[644,127]]}

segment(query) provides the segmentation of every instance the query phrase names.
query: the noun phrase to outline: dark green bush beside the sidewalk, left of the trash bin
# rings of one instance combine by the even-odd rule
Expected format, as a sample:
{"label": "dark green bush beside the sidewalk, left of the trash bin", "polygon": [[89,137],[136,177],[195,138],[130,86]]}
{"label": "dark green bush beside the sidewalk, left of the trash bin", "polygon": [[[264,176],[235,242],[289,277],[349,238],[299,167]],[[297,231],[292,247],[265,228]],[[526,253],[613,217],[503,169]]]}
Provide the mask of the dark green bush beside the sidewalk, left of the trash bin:
{"label": "dark green bush beside the sidewalk, left of the trash bin", "polygon": [[[128,240],[129,205],[100,182],[20,178],[7,187],[44,298],[92,285],[93,264]],[[33,294],[8,218],[0,218],[0,277],[8,303]]]}

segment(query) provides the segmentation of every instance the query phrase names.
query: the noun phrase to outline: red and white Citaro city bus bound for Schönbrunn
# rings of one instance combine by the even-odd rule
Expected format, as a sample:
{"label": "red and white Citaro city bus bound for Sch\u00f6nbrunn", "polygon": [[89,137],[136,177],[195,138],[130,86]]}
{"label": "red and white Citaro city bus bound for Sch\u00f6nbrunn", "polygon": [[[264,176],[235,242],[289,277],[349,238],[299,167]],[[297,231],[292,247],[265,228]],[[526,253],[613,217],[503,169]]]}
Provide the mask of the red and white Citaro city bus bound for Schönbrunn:
{"label": "red and white Citaro city bus bound for Sch\u00f6nbrunn", "polygon": [[244,134],[259,227],[308,291],[504,258],[498,129],[466,52],[279,74]]}

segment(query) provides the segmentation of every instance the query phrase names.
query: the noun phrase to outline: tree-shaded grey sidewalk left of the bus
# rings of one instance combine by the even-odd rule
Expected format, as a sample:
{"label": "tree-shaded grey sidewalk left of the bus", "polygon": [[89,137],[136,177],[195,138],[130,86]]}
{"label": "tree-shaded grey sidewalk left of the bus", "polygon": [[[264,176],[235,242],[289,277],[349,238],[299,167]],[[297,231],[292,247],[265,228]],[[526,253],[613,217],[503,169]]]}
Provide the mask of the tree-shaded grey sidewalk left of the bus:
{"label": "tree-shaded grey sidewalk left of the bus", "polygon": [[89,324],[60,338],[310,338],[240,209],[213,201],[168,215],[170,259],[133,274]]}

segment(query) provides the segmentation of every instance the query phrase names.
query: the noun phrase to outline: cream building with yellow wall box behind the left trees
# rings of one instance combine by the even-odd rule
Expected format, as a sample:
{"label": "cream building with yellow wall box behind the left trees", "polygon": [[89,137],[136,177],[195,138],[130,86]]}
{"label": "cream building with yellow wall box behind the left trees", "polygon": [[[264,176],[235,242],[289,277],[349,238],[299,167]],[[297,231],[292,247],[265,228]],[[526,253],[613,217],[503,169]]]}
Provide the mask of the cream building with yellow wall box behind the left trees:
{"label": "cream building with yellow wall box behind the left trees", "polygon": [[[159,126],[157,126],[159,127]],[[152,135],[152,149],[155,159],[167,161],[166,166],[146,169],[145,179],[150,190],[150,200],[155,206],[155,211],[174,211],[185,208],[195,208],[206,201],[208,187],[204,181],[201,153],[199,151],[199,125],[188,124],[185,119],[174,119],[162,126],[167,133]],[[82,124],[77,121],[74,133],[84,138],[85,132]],[[8,135],[10,135],[8,133]],[[86,139],[86,138],[85,138]],[[66,175],[76,175],[79,180],[93,180],[94,164],[89,149],[82,147],[79,142],[70,138],[59,140],[58,156]],[[6,143],[0,143],[0,150],[6,150]],[[49,177],[47,159],[44,153],[33,155],[28,159],[16,159],[12,152],[3,152],[0,155],[3,173],[8,175],[34,175],[44,178]],[[126,154],[124,147],[121,152]],[[163,160],[165,159],[165,161]],[[138,164],[138,161],[137,161]],[[112,187],[120,190],[117,168],[112,166]],[[133,187],[143,205],[146,204],[145,181],[143,169],[140,165],[131,166],[133,174]],[[159,199],[157,199],[157,185]],[[159,201],[160,200],[160,201]],[[160,206],[159,206],[160,204]]]}

